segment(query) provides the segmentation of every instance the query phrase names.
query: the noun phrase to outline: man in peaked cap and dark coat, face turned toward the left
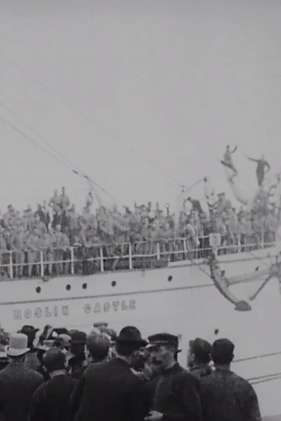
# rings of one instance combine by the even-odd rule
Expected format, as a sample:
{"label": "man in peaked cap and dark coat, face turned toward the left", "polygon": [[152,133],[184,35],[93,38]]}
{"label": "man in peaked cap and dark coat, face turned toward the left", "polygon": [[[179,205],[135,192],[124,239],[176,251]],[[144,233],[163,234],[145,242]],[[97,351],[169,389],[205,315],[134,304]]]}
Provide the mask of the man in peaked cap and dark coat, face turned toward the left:
{"label": "man in peaked cap and dark coat, face turned toward the left", "polygon": [[153,410],[145,421],[201,421],[197,378],[176,362],[178,337],[157,333],[148,338],[150,358],[162,371],[155,391]]}

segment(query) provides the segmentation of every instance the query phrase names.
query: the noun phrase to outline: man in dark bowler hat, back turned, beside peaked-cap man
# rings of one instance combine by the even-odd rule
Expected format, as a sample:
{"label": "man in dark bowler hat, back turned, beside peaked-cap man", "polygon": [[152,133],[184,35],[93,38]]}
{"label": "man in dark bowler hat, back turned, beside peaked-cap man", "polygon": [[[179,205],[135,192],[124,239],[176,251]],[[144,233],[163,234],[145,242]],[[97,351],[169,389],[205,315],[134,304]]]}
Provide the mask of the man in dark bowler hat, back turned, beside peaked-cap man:
{"label": "man in dark bowler hat, back turned, beside peaked-cap man", "polygon": [[114,359],[91,364],[82,375],[70,399],[72,421],[143,421],[138,407],[143,382],[131,372],[138,349],[147,345],[134,326],[121,330]]}

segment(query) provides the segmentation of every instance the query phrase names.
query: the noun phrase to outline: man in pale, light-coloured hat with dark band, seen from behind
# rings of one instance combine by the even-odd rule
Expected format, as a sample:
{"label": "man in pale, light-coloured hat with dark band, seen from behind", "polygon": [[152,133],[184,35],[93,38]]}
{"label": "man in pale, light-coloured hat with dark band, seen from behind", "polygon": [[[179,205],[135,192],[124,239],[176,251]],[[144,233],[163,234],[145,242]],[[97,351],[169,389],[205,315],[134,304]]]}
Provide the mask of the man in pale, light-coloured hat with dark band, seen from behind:
{"label": "man in pale, light-coloured hat with dark band, seen from behind", "polygon": [[32,396],[43,377],[25,366],[27,335],[11,335],[6,347],[9,363],[0,371],[0,415],[6,421],[27,421]]}

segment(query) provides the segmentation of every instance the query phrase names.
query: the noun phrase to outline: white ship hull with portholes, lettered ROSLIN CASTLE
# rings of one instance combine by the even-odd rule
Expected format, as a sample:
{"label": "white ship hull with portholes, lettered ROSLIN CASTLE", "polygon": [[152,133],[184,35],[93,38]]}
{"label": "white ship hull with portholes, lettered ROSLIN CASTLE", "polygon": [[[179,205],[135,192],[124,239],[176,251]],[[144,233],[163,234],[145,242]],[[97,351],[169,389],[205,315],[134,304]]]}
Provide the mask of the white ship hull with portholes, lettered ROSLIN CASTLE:
{"label": "white ship hull with portholes, lettered ROSLIN CASTLE", "polygon": [[[270,265],[273,250],[256,250],[219,258],[227,276],[254,272]],[[259,260],[262,259],[262,260]],[[233,369],[246,378],[280,370],[281,354],[249,359],[281,351],[280,291],[272,279],[251,302],[251,311],[238,312],[221,295],[209,277],[209,267],[197,260],[174,262],[163,269],[104,272],[91,276],[67,276],[43,281],[26,279],[0,283],[0,321],[6,330],[24,324],[91,330],[93,322],[107,321],[119,330],[127,324],[147,336],[157,331],[181,335],[180,361],[186,364],[188,341],[200,336],[209,341],[228,337],[235,342]],[[251,281],[259,288],[261,281]],[[249,284],[248,284],[249,286]],[[40,288],[40,292],[38,292]],[[232,290],[241,298],[245,284]],[[249,360],[248,360],[249,359]],[[281,413],[278,393],[281,381],[256,385],[263,415]],[[270,391],[270,392],[269,392]]]}

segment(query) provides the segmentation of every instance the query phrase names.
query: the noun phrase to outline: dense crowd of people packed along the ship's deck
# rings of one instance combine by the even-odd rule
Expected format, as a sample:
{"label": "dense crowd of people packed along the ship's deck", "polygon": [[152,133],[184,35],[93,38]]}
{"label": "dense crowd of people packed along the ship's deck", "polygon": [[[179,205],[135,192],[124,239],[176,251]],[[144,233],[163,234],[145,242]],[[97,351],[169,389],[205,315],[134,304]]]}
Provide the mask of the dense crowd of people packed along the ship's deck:
{"label": "dense crowd of people packed along the ship's deck", "polygon": [[[236,210],[226,195],[218,194],[216,206],[207,213],[202,210],[200,201],[188,198],[178,214],[171,213],[169,205],[165,210],[156,203],[137,206],[134,209],[117,206],[106,209],[96,206],[89,192],[81,213],[63,187],[61,193],[55,190],[49,201],[38,204],[37,210],[31,206],[22,214],[12,205],[6,213],[0,213],[0,267],[11,263],[16,265],[16,276],[22,276],[23,266],[28,265],[28,276],[34,272],[34,265],[40,261],[59,262],[69,258],[70,246],[105,246],[105,255],[115,255],[117,243],[138,244],[135,254],[149,254],[153,247],[140,243],[159,243],[165,253],[173,251],[175,243],[171,239],[186,239],[186,248],[204,248],[204,239],[210,232],[221,234],[221,246],[237,246],[238,243],[258,245],[272,243],[277,227],[277,213],[269,212],[266,194],[261,191],[251,212]],[[173,245],[174,244],[174,245]],[[119,255],[124,254],[119,246]],[[53,270],[53,269],[52,269]],[[33,271],[33,272],[32,272]],[[50,271],[51,272],[51,269]]]}

